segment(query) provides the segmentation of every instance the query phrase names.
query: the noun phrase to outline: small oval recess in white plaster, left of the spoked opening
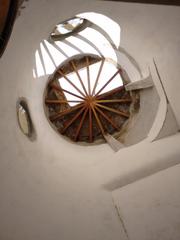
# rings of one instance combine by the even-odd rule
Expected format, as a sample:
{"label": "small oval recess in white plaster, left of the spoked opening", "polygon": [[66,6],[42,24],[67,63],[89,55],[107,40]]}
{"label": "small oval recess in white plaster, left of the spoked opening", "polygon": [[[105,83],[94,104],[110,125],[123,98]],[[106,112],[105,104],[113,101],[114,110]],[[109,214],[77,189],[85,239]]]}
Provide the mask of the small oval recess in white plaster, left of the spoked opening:
{"label": "small oval recess in white plaster, left of the spoked opening", "polygon": [[21,132],[29,139],[35,139],[35,131],[30,117],[27,101],[24,98],[20,98],[16,105],[17,120]]}

